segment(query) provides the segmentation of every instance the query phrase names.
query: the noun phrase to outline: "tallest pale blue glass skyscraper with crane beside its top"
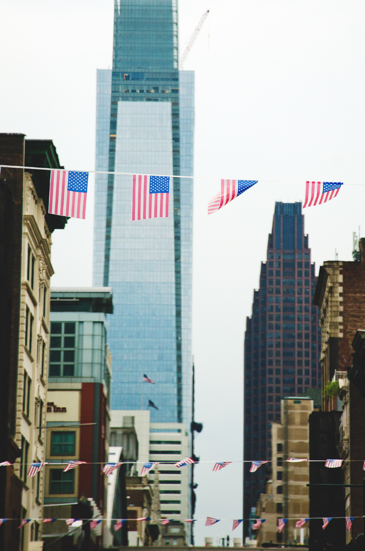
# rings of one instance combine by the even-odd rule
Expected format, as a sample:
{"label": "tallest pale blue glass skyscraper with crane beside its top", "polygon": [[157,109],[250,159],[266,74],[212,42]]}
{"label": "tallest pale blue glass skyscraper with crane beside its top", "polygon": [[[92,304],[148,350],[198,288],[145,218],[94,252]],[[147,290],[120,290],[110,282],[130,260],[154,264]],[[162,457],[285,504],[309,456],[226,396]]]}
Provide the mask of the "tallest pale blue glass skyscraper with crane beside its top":
{"label": "tallest pale blue glass skyscraper with crane beside its top", "polygon": [[[194,73],[178,70],[177,39],[177,0],[115,0],[113,68],[97,72],[96,170],[193,175]],[[192,180],[171,179],[170,218],[132,222],[132,176],[96,176],[94,285],[114,298],[112,409],[150,399],[152,422],[189,423]]]}

